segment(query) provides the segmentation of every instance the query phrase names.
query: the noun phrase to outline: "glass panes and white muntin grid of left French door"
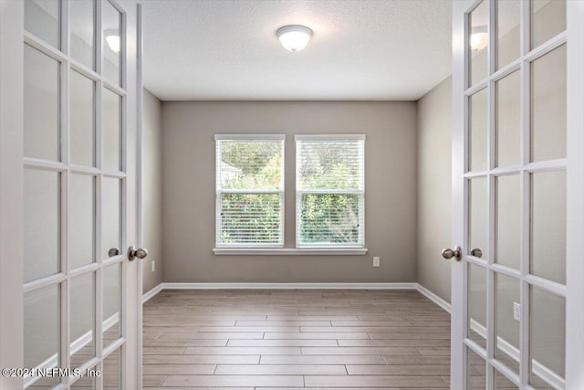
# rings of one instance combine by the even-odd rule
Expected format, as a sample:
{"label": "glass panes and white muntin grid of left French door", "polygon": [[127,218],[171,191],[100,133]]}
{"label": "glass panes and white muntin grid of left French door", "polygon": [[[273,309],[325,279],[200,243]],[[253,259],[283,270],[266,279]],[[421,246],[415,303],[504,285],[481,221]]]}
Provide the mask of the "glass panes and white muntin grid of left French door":
{"label": "glass panes and white muntin grid of left French door", "polygon": [[[102,23],[104,9],[117,15],[117,53],[106,47],[104,32],[110,28]],[[26,0],[24,10],[24,45],[30,53],[25,112],[36,107],[41,114],[25,115],[36,118],[25,126],[25,207],[31,207],[25,219],[25,234],[31,238],[25,244],[26,366],[103,371],[107,365],[109,377],[121,378],[126,343],[126,14],[110,0]],[[118,58],[117,67],[109,67],[106,75],[103,69],[112,56]],[[106,109],[107,118],[104,94],[115,101],[113,110]],[[107,144],[106,132],[113,133]],[[104,185],[110,182],[115,191]],[[114,221],[108,229],[106,220]],[[110,258],[101,242],[112,236],[111,226],[117,226],[113,242],[120,255]],[[46,239],[48,259],[34,240],[43,228],[53,232]],[[47,317],[39,315],[45,311]],[[60,383],[68,388],[77,380],[63,377],[49,384],[47,378],[27,377],[25,386]],[[89,379],[96,388],[107,385],[104,381]]]}

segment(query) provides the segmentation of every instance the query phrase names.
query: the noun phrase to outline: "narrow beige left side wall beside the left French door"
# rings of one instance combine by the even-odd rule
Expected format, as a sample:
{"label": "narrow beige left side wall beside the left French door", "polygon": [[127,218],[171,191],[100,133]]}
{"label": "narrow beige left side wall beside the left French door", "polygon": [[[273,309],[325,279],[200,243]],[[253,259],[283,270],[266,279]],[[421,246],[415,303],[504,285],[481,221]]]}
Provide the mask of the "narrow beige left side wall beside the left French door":
{"label": "narrow beige left side wall beside the left French door", "polygon": [[162,283],[162,103],[149,90],[142,118],[142,244],[148,249],[142,276],[148,292]]}

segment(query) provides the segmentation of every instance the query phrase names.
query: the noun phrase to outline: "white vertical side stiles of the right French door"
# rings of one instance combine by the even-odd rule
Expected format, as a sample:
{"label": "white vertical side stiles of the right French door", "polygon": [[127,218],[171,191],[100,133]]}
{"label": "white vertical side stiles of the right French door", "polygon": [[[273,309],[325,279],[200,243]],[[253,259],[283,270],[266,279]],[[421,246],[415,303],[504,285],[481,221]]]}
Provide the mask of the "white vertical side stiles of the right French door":
{"label": "white vertical side stiles of the right French door", "polygon": [[[485,0],[486,1],[486,0]],[[466,250],[466,197],[464,167],[465,142],[466,53],[467,21],[465,13],[476,5],[475,0],[453,2],[453,130],[452,130],[452,246]],[[524,2],[522,8],[528,9]],[[584,388],[584,2],[567,1],[567,253],[566,253],[566,388]],[[490,26],[494,26],[490,22]],[[490,37],[490,44],[494,37]],[[462,152],[462,153],[461,153]],[[451,328],[451,387],[464,389],[466,383],[466,348],[464,334],[467,318],[467,270],[465,261],[452,262],[452,328]],[[523,289],[523,296],[528,293]],[[487,305],[493,300],[487,298]],[[522,311],[528,313],[527,308]],[[489,320],[487,319],[487,322]],[[527,346],[528,335],[522,325],[521,343]],[[493,336],[493,332],[490,335]],[[528,363],[524,359],[523,364]],[[525,370],[524,370],[525,372]],[[488,380],[487,380],[488,384]]]}

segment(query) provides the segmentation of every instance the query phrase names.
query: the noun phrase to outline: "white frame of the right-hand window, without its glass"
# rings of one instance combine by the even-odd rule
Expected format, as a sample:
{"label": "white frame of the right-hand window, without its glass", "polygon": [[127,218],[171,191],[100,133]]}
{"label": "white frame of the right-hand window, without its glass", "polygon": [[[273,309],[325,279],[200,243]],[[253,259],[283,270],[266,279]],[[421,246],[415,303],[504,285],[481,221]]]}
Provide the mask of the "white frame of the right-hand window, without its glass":
{"label": "white frame of the right-hand window, without its glass", "polygon": [[[295,174],[296,174],[296,248],[297,249],[351,249],[351,248],[365,248],[365,141],[367,137],[365,134],[297,134],[294,136],[295,146],[296,146],[296,161],[295,161]],[[310,142],[330,142],[330,141],[360,141],[360,184],[359,189],[301,189],[300,188],[300,177],[301,172],[300,166],[300,148],[298,147],[298,142],[310,141]],[[302,213],[302,195],[307,194],[337,194],[337,195],[359,195],[359,240],[358,242],[351,243],[303,243],[301,240],[301,213]]]}

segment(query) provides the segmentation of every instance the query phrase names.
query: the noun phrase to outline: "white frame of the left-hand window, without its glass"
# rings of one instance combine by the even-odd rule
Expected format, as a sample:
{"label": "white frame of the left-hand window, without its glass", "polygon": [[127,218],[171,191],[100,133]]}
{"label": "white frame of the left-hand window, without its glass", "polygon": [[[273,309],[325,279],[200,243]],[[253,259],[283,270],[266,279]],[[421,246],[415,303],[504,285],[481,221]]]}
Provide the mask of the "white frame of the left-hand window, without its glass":
{"label": "white frame of the left-hand window, without its glass", "polygon": [[[246,249],[246,248],[284,248],[285,244],[285,174],[286,174],[286,163],[285,163],[285,153],[286,153],[286,134],[215,134],[215,248],[233,248],[233,249]],[[228,189],[225,190],[221,187],[221,152],[219,148],[220,141],[247,141],[247,142],[262,142],[262,141],[281,141],[282,142],[282,163],[281,166],[281,181],[280,188],[276,190],[264,190],[264,189],[245,189],[245,190],[235,190]],[[279,241],[277,243],[223,243],[221,242],[222,237],[222,195],[224,194],[277,194],[280,195],[280,228],[279,228]]]}

